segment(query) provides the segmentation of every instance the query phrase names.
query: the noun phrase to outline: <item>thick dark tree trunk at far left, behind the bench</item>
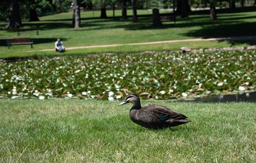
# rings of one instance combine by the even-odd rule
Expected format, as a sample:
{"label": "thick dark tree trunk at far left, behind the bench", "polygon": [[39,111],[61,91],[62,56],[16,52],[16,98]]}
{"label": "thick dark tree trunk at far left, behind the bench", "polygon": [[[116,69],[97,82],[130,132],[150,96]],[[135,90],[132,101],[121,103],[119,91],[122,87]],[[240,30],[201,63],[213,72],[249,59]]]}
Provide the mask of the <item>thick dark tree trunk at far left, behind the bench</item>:
{"label": "thick dark tree trunk at far left, behind the bench", "polygon": [[15,29],[22,26],[22,18],[20,17],[18,0],[8,1],[8,18],[9,22],[6,25],[6,29]]}

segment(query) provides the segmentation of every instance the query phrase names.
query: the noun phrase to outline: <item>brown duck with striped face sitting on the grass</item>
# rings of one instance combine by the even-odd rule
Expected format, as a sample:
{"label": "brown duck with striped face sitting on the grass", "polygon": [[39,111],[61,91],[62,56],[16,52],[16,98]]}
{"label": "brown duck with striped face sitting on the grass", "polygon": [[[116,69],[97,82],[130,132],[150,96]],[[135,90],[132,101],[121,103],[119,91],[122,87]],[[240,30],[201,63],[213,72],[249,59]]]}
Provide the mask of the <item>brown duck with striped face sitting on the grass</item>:
{"label": "brown duck with striped face sitting on the grass", "polygon": [[131,120],[145,128],[161,129],[191,122],[185,115],[163,105],[149,104],[141,107],[140,98],[136,94],[127,95],[119,105],[126,103],[133,104],[130,110]]}

